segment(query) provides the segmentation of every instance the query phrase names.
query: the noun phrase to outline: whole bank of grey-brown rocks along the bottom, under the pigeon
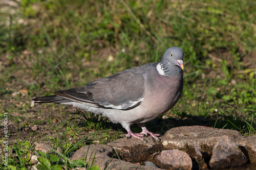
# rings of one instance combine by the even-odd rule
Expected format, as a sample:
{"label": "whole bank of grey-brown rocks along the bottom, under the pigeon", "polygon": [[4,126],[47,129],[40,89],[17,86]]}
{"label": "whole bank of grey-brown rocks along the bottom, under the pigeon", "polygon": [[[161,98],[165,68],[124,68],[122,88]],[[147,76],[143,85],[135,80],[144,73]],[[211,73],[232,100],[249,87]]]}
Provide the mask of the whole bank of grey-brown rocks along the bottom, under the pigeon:
{"label": "whole bank of grey-brown rocks along the bottom, under the pigeon", "polygon": [[[144,138],[86,145],[71,160],[85,158],[100,169],[256,169],[256,136],[238,131],[190,126],[170,129],[160,142]],[[40,143],[35,150],[47,148]]]}

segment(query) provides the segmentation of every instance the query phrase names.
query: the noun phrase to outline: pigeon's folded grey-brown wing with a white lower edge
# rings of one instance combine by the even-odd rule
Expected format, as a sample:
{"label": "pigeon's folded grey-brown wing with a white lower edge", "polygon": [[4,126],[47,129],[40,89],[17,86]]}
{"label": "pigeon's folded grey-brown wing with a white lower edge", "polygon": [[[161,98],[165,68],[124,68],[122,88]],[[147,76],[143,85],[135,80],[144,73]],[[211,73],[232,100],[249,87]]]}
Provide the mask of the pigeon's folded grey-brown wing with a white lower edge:
{"label": "pigeon's folded grey-brown wing with a white lower edge", "polygon": [[138,106],[144,96],[143,66],[123,70],[115,75],[101,78],[76,90],[100,107],[129,110]]}

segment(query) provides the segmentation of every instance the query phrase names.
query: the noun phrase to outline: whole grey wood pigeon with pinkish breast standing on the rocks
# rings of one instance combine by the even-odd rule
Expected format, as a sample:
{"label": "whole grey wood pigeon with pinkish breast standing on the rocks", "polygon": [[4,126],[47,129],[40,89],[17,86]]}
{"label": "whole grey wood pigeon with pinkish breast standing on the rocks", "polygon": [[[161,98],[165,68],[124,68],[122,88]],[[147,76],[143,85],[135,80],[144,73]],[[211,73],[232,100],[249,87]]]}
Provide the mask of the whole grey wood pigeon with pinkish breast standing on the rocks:
{"label": "whole grey wood pigeon with pinkish breast standing on the rocks", "polygon": [[[72,105],[120,123],[127,137],[152,133],[144,123],[172,109],[183,89],[183,52],[170,47],[159,63],[148,63],[92,81],[82,87],[55,91],[56,95],[34,98],[35,103]],[[135,134],[130,126],[137,124],[142,132]]]}

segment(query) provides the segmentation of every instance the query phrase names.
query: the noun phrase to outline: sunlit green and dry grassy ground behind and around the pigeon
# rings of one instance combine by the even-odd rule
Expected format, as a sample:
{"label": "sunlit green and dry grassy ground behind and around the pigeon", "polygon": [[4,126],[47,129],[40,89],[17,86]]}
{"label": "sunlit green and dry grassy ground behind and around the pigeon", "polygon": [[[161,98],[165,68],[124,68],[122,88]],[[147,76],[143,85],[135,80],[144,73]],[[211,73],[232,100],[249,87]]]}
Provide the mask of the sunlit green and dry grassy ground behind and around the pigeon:
{"label": "sunlit green and dry grassy ground behind and around the pigeon", "polygon": [[[17,6],[13,14],[0,9],[0,110],[19,125],[16,149],[28,145],[28,154],[28,140],[51,141],[65,155],[81,133],[111,129],[101,117],[68,117],[74,110],[51,104],[34,109],[30,100],[159,61],[169,46],[184,52],[184,90],[172,111],[147,123],[150,130],[204,125],[255,134],[256,2],[22,0]],[[23,130],[34,125],[54,133],[20,144]],[[99,143],[118,138],[119,128],[102,132]],[[28,166],[22,157],[10,159]]]}

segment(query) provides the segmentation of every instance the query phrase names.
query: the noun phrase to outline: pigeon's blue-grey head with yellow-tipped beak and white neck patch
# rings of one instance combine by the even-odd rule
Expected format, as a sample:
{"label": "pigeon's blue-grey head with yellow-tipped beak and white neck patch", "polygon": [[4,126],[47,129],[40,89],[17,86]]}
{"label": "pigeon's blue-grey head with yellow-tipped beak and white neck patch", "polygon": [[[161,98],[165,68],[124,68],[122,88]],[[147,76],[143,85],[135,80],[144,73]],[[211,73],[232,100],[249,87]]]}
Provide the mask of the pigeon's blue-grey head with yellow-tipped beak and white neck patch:
{"label": "pigeon's blue-grey head with yellow-tipped beak and white neck patch", "polygon": [[181,72],[184,69],[182,58],[183,51],[181,48],[169,47],[157,65],[158,73],[162,76],[168,76]]}

